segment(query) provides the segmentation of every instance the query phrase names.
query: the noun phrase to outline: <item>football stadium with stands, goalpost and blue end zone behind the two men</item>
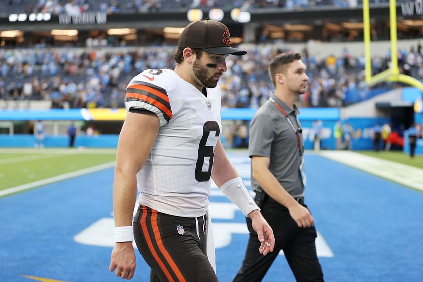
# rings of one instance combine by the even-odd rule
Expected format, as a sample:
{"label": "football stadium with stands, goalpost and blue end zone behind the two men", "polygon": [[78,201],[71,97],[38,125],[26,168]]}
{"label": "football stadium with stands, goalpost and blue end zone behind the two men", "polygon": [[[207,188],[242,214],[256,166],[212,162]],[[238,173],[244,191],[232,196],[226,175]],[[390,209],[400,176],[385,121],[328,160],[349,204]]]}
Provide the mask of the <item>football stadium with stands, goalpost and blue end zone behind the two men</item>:
{"label": "football stadium with stands, goalpost and blue end zone behind the two men", "polygon": [[[109,265],[128,84],[144,70],[175,69],[180,34],[204,19],[225,24],[224,40],[247,51],[224,60],[222,126],[208,134],[216,133],[250,195],[250,125],[272,99],[268,65],[299,53],[308,76],[296,101],[305,198],[324,280],[423,277],[420,0],[2,0],[0,7],[0,281],[121,280]],[[166,110],[160,123],[170,124]],[[201,142],[212,148],[208,137]],[[207,158],[211,175],[213,152]],[[172,172],[164,182],[178,178]],[[215,182],[208,215],[216,276],[232,281],[249,238],[245,217]],[[133,246],[132,280],[150,281]],[[296,280],[284,256],[263,281]]]}

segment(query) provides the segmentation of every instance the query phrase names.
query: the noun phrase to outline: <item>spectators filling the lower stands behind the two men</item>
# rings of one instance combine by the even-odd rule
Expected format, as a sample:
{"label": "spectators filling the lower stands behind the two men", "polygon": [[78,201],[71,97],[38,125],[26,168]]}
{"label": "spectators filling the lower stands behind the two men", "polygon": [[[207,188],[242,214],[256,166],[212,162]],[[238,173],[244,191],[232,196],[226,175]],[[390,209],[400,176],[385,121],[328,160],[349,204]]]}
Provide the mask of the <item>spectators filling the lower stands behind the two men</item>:
{"label": "spectators filling the lower stands behind the two men", "polygon": [[[269,60],[285,50],[283,44],[247,46],[241,58],[228,56],[228,71],[220,81],[222,106],[257,108],[272,91],[268,79]],[[145,48],[57,48],[0,50],[0,99],[51,100],[54,108],[124,107],[130,78],[149,68],[174,68],[173,47]],[[353,57],[347,49],[322,60],[302,51],[307,65],[309,89],[301,96],[301,107],[341,107],[348,92],[365,98],[364,57]],[[389,55],[372,58],[372,69],[388,68]],[[404,74],[423,79],[421,46],[400,50],[398,62]]]}

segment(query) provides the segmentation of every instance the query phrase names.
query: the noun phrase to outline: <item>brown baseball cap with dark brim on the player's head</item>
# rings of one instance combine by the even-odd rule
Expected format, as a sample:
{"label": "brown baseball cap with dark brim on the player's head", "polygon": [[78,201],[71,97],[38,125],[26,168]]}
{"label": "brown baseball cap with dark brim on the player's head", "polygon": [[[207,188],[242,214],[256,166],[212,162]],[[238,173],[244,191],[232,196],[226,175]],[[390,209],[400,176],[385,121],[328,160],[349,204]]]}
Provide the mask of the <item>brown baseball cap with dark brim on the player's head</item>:
{"label": "brown baseball cap with dark brim on the player's head", "polygon": [[242,56],[247,52],[231,47],[231,35],[226,25],[209,19],[190,23],[178,38],[178,48],[202,49],[216,55]]}

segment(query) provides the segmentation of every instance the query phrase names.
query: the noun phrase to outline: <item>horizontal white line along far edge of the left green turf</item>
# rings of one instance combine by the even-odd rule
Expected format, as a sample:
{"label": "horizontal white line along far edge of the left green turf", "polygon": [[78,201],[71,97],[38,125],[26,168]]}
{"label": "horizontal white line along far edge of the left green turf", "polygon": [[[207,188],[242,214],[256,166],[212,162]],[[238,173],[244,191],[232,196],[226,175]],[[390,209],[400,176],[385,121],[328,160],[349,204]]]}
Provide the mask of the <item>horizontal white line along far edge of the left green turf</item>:
{"label": "horizontal white line along far edge of the left green turf", "polygon": [[0,154],[116,154],[116,148],[1,148]]}

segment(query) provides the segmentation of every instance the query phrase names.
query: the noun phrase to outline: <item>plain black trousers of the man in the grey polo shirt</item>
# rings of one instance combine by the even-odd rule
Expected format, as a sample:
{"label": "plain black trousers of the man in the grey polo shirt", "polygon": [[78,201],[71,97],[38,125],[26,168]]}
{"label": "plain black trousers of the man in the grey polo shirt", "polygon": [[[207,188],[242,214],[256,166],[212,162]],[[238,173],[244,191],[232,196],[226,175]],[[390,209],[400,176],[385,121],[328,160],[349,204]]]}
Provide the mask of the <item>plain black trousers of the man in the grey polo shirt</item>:
{"label": "plain black trousers of the man in the grey polo shirt", "polygon": [[[302,205],[307,207],[304,203]],[[247,218],[250,238],[244,261],[234,282],[261,281],[280,250],[284,251],[297,281],[323,281],[322,268],[316,254],[316,229],[298,227],[288,209],[270,197],[264,203],[261,213],[273,229],[276,245],[273,252],[266,256],[260,254],[257,233],[251,227],[251,219]]]}

